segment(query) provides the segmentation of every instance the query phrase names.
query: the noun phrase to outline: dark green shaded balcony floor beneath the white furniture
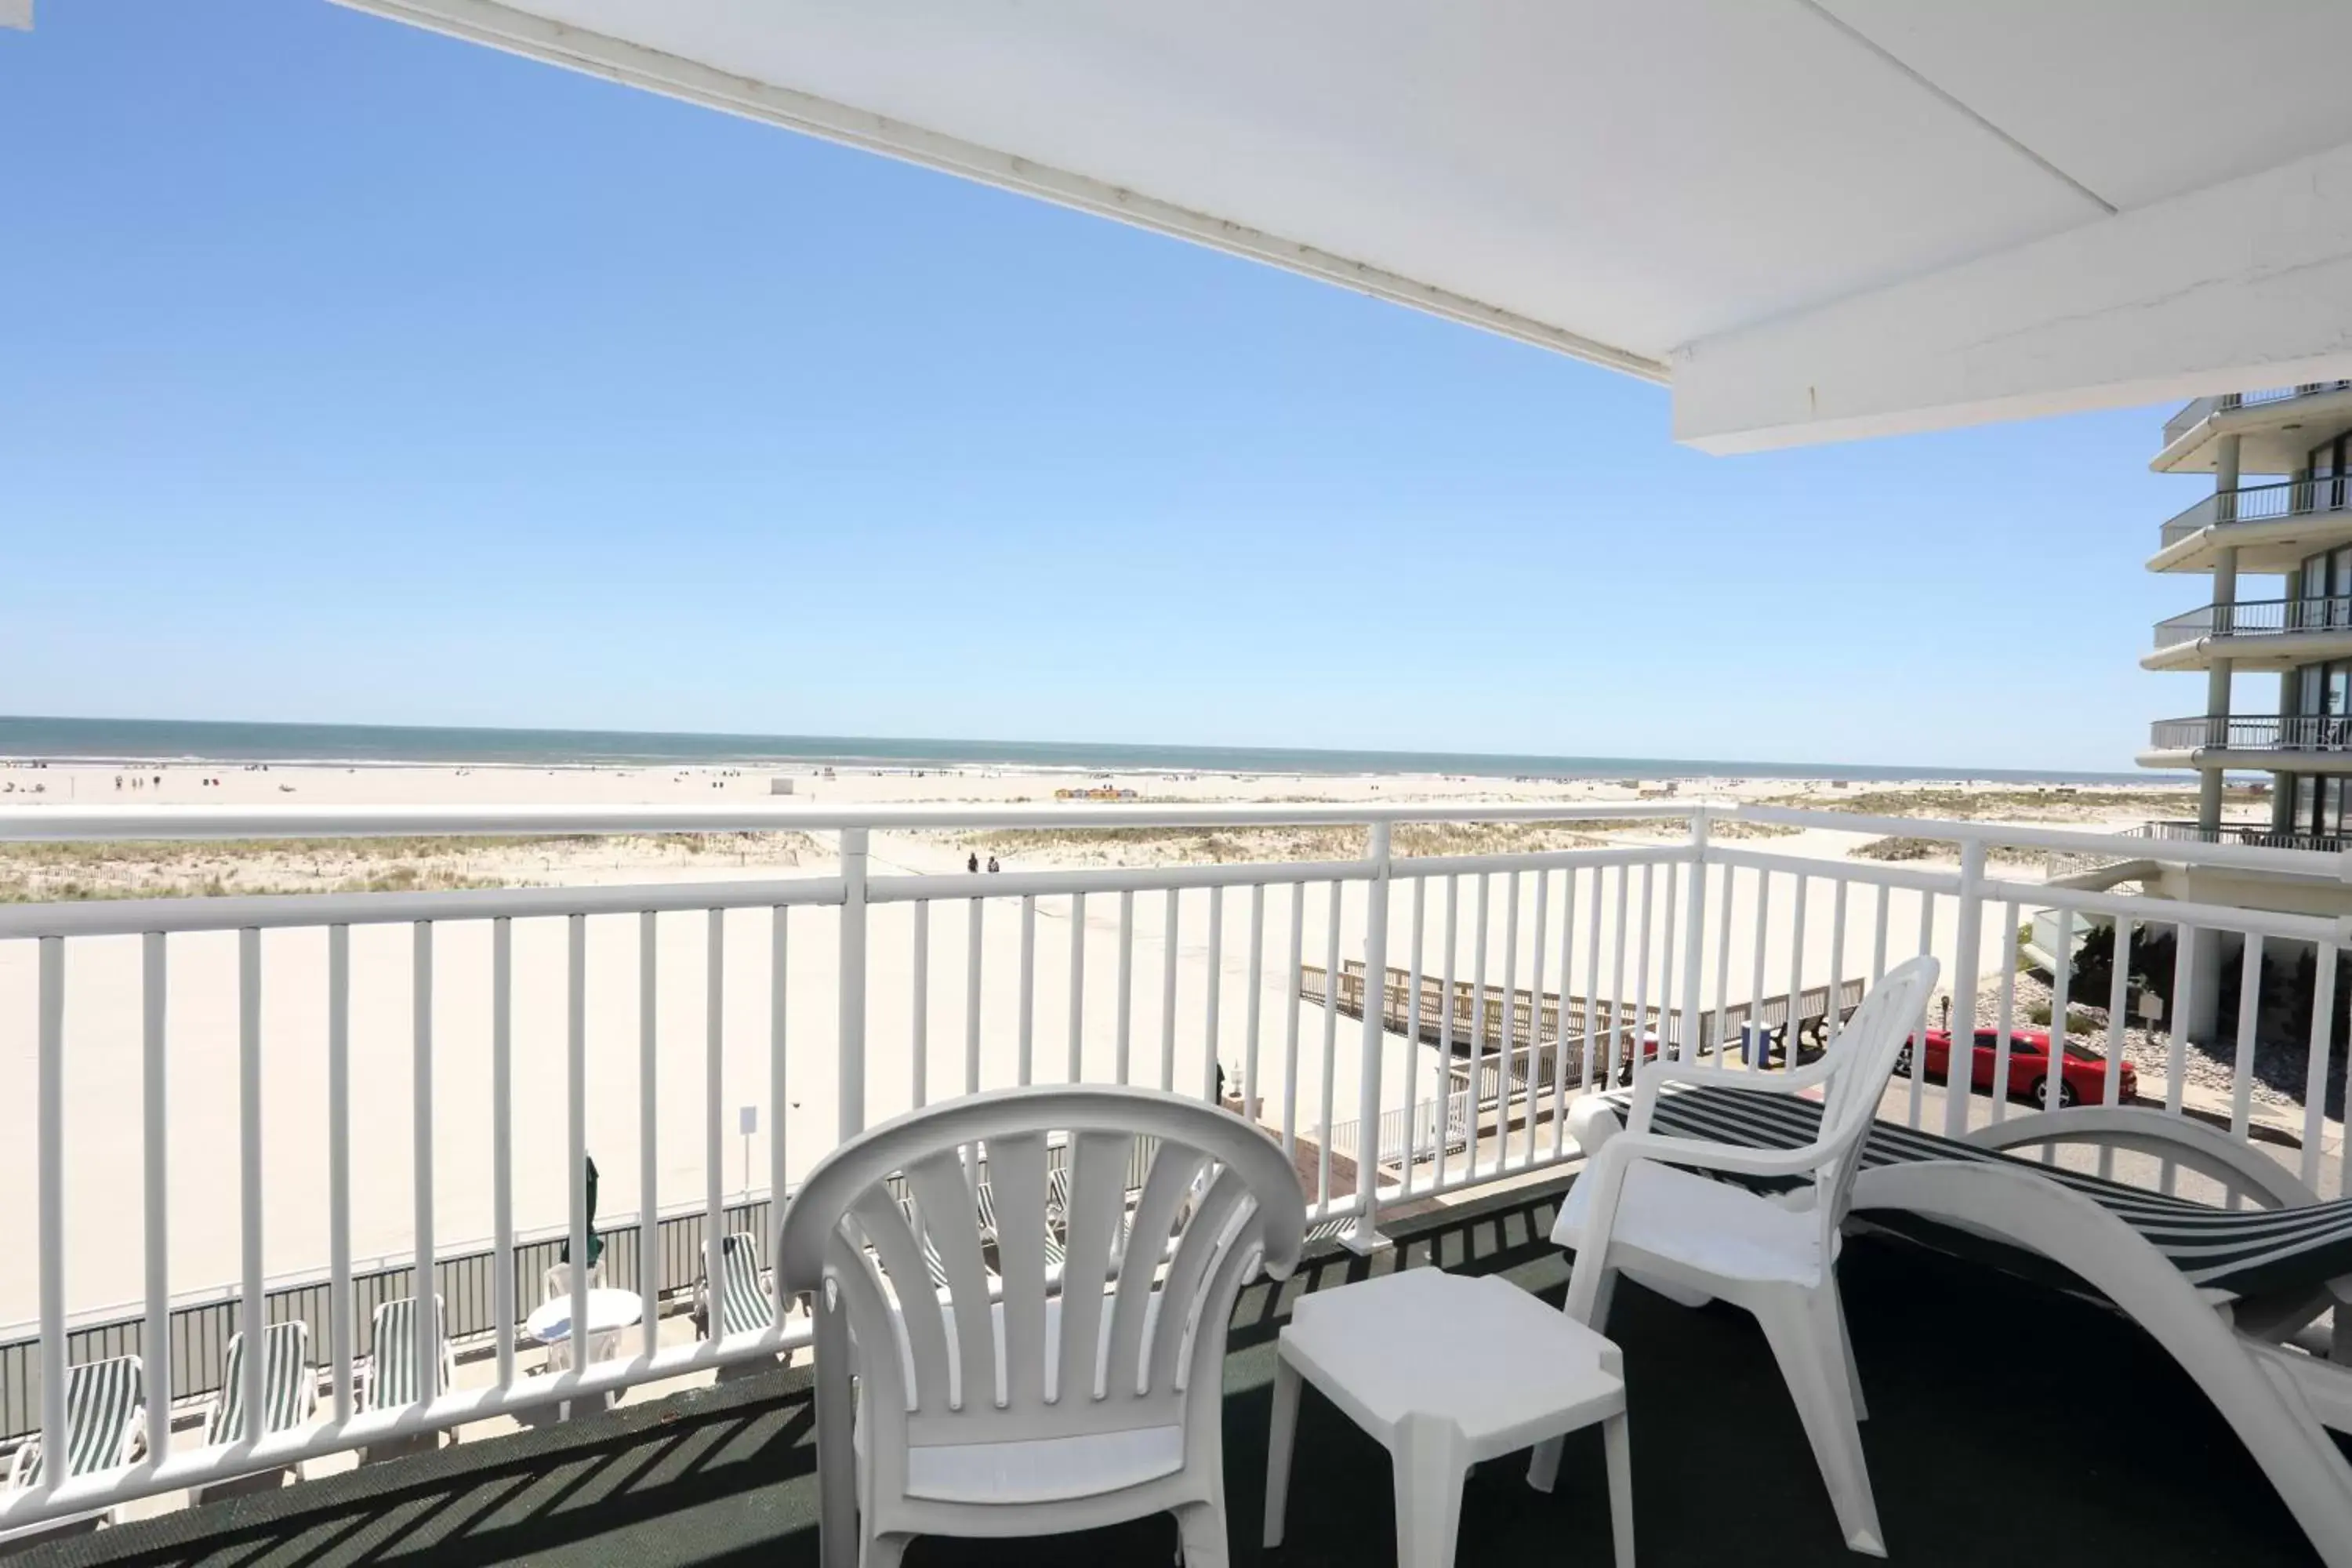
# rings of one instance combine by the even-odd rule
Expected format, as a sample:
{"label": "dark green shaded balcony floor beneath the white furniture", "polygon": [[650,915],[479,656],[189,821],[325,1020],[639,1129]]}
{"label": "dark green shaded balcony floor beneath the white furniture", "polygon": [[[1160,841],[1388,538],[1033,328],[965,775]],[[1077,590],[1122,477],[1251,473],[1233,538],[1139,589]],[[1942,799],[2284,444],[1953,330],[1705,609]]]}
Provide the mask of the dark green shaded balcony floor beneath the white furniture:
{"label": "dark green shaded balcony floor beneath the white furniture", "polygon": [[[1406,1265],[1508,1272],[1559,1300],[1543,1241],[1557,1185],[1397,1229]],[[1385,1453],[1317,1394],[1301,1413],[1289,1544],[1258,1549],[1272,1333],[1298,1288],[1392,1267],[1322,1255],[1279,1295],[1244,1293],[1225,1363],[1232,1561],[1364,1568],[1395,1561]],[[2042,1286],[1863,1237],[1844,1262],[1865,1427],[1893,1561],[1912,1566],[2117,1561],[2310,1563],[2303,1535],[2197,1389],[2122,1319]],[[1644,1563],[1839,1563],[1797,1415],[1755,1324],[1618,1291],[1613,1335],[1632,1382]],[[811,1566],[807,1371],[619,1410],[595,1422],[449,1448],[303,1488],[191,1509],[24,1559],[139,1568],[353,1563]],[[1595,1432],[1569,1443],[1559,1490],[1515,1460],[1463,1497],[1461,1561],[1606,1563]],[[924,1563],[1169,1563],[1174,1528],[1023,1542],[922,1540]]]}

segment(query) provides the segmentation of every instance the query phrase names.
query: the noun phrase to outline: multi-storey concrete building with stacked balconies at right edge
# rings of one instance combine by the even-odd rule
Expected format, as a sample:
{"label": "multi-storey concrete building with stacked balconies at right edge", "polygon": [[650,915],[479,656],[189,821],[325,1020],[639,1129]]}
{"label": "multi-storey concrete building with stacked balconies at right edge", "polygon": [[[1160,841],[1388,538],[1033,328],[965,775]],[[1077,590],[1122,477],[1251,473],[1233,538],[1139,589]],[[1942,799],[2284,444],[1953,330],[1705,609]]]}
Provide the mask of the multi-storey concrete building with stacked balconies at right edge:
{"label": "multi-storey concrete building with stacked balconies at right edge", "polygon": [[[2157,473],[2211,473],[2164,524],[2150,571],[2213,578],[2157,623],[2150,670],[2201,670],[2201,712],[2157,719],[2140,764],[2197,769],[2197,820],[2166,837],[2343,851],[2352,844],[2352,381],[2199,397],[2164,425]],[[2253,581],[2249,581],[2253,578]],[[2234,691],[2277,675],[2277,698]],[[2223,773],[2272,776],[2267,820],[2223,820]]]}

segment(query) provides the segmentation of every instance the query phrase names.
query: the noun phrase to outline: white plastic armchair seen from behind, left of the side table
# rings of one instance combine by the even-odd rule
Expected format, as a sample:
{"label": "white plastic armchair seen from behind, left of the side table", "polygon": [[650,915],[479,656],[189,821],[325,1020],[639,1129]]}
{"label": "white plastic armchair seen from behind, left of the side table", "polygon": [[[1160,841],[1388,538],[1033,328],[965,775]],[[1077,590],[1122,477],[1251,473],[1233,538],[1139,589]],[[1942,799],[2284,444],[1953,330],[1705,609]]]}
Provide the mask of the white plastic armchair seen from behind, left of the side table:
{"label": "white plastic armchair seen from behind, left of the side table", "polygon": [[[1061,1269],[1044,1246],[1054,1133],[1070,1161]],[[1148,1244],[1112,1262],[1138,1135],[1160,1140],[1131,1220]],[[997,1300],[960,1159],[981,1140]],[[946,1286],[887,1185],[901,1171]],[[1209,1185],[1178,1215],[1202,1171]],[[1188,1563],[1225,1563],[1225,1324],[1254,1267],[1289,1276],[1303,1229],[1279,1145],[1145,1088],[969,1095],[835,1150],[793,1199],[776,1258],[779,1288],[816,1298],[826,1561],[889,1568],[915,1535],[1054,1535],[1171,1512]]]}

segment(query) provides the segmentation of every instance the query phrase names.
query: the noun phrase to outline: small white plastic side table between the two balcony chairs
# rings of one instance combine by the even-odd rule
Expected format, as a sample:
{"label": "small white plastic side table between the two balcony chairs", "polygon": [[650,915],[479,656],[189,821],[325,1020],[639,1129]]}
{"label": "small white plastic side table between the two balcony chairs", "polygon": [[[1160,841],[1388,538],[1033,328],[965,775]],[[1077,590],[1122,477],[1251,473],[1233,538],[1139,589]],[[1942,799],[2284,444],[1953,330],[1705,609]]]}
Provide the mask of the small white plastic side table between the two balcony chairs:
{"label": "small white plastic side table between the two balcony chairs", "polygon": [[1472,1465],[1592,1422],[1609,1458],[1616,1568],[1632,1568],[1623,1366],[1616,1345],[1496,1276],[1418,1267],[1315,1291],[1275,1366],[1265,1544],[1282,1544],[1305,1380],[1388,1448],[1399,1568],[1451,1568]]}

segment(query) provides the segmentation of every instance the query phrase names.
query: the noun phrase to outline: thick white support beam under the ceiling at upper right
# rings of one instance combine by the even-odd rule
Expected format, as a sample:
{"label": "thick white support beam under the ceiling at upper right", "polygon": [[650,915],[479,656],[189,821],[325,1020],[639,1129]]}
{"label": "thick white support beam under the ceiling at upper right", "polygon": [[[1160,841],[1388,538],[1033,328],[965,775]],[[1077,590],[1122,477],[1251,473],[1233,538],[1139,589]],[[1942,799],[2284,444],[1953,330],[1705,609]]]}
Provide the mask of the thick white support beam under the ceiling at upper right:
{"label": "thick white support beam under the ceiling at upper right", "polygon": [[1675,440],[1766,451],[2352,376],[2352,143],[1700,339]]}

